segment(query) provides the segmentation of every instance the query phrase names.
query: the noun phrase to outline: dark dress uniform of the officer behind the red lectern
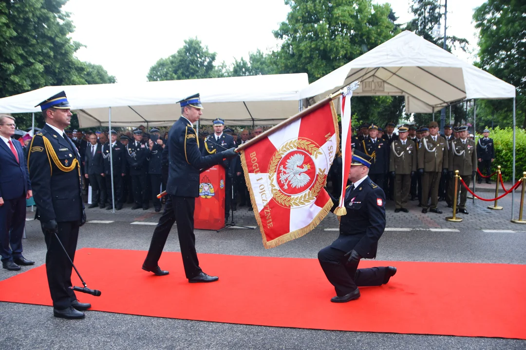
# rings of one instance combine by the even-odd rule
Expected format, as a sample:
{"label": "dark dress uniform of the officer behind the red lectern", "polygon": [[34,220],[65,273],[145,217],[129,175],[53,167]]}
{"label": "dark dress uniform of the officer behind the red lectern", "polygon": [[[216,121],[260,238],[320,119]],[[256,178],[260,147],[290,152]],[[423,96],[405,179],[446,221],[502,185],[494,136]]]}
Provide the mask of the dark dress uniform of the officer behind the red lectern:
{"label": "dark dress uniform of the officer behind the red lectern", "polygon": [[[235,147],[234,137],[225,133],[219,136],[214,133],[206,137],[203,155],[225,151],[232,147]],[[230,163],[230,160],[224,160],[220,163],[225,168],[225,221],[230,216],[230,204],[232,201],[232,169],[230,169]]]}

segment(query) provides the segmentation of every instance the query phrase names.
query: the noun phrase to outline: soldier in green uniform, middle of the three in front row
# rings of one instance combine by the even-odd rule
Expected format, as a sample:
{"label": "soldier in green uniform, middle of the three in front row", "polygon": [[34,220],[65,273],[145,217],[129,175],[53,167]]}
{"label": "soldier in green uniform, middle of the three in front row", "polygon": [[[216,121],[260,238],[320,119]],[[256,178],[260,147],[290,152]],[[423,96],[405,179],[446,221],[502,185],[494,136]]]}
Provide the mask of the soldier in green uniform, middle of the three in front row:
{"label": "soldier in green uniform, middle of the three in front row", "polygon": [[448,173],[448,151],[446,139],[438,134],[438,123],[428,125],[430,135],[422,137],[418,150],[418,172],[422,175],[422,213],[427,213],[431,196],[431,213],[442,214],[437,208],[440,175]]}

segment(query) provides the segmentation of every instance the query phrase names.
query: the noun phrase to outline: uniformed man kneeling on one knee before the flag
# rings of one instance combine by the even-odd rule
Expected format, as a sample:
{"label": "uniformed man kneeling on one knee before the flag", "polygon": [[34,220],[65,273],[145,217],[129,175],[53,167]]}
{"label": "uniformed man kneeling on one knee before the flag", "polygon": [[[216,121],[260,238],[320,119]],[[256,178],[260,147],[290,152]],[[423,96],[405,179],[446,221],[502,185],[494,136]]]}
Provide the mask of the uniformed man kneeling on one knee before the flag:
{"label": "uniformed man kneeling on one knee before the flag", "polygon": [[[335,287],[333,303],[360,298],[360,286],[382,285],[395,275],[396,268],[358,269],[361,258],[374,259],[378,240],[386,228],[386,197],[383,190],[367,176],[372,157],[360,151],[352,155],[345,193],[347,214],[340,220],[340,235],[318,252],[318,260],[329,282]],[[338,200],[333,199],[336,209]]]}

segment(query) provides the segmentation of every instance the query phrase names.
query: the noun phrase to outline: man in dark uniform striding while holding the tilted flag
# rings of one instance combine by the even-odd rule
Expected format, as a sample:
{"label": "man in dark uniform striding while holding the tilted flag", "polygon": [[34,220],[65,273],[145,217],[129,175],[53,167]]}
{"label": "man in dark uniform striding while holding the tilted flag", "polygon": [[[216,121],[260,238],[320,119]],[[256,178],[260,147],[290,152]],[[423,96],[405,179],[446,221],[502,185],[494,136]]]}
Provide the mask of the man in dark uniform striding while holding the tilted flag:
{"label": "man in dark uniform striding while holding the tilted flag", "polygon": [[151,237],[143,270],[153,272],[158,276],[168,274],[168,271],[159,268],[158,261],[170,229],[177,221],[179,246],[188,282],[214,282],[219,278],[209,276],[201,270],[195,249],[194,209],[195,199],[199,196],[199,171],[220,164],[223,158],[233,158],[237,153],[232,148],[207,156],[201,155],[197,133],[193,128],[193,124],[203,114],[199,94],[181,100],[179,103],[182,115],[171,127],[168,144],[165,146],[165,150],[168,147],[167,157],[169,158],[166,188],[168,199],[163,216],[160,217],[154,235]]}

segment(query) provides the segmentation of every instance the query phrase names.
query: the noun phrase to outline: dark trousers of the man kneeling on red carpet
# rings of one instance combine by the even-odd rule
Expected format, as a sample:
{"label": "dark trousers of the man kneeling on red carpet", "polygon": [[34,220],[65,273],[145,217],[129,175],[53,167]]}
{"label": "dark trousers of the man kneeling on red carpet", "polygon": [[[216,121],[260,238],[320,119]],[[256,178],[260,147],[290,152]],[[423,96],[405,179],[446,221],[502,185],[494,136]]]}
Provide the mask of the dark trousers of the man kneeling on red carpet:
{"label": "dark trousers of the man kneeling on red carpet", "polygon": [[318,260],[329,282],[334,286],[336,295],[343,296],[358,287],[382,285],[387,267],[358,269],[356,264],[346,264],[345,251],[325,247],[318,252]]}

